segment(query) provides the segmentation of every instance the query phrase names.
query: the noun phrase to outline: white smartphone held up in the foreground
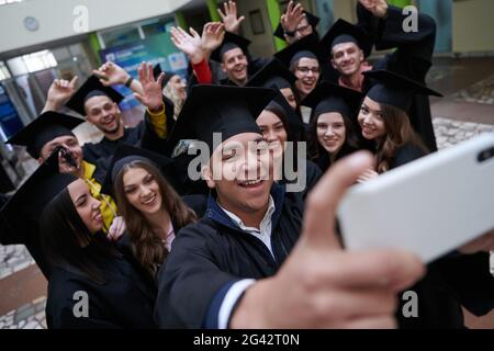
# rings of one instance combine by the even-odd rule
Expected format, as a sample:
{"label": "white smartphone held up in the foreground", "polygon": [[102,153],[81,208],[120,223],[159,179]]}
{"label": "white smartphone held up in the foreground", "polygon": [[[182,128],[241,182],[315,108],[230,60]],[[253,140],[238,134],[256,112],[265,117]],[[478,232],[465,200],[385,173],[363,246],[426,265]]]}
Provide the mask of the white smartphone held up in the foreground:
{"label": "white smartphone held up in the foreground", "polygon": [[338,207],[349,250],[400,248],[428,263],[494,228],[494,134],[352,186]]}

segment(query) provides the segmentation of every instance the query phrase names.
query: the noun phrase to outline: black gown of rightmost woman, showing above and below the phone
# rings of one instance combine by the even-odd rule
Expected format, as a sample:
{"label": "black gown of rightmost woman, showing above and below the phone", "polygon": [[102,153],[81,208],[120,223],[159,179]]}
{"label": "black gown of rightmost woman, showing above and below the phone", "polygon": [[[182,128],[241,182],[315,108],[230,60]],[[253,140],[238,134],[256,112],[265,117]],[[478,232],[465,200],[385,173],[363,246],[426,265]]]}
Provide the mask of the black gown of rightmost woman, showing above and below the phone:
{"label": "black gown of rightmost woman, showing above and below the phone", "polygon": [[[406,144],[395,152],[390,169],[406,165],[425,152]],[[489,270],[489,254],[451,253],[427,265],[424,279],[408,288],[417,293],[418,318],[405,318],[407,303],[400,296],[397,320],[401,328],[463,328],[461,305],[472,314],[485,315],[494,308],[494,278]]]}

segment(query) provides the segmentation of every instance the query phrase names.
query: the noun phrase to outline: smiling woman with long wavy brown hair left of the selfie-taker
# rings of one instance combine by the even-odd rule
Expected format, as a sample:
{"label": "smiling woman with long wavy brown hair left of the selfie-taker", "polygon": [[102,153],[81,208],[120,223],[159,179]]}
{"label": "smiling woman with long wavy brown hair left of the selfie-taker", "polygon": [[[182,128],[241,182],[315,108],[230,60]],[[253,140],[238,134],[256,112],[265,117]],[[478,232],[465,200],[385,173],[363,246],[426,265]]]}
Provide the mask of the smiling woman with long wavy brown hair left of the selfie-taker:
{"label": "smiling woman with long wavy brown hair left of the selfie-taker", "polygon": [[[130,149],[127,154],[134,148]],[[182,200],[178,195],[162,176],[164,163],[157,157],[151,161],[143,156],[126,156],[110,170],[119,211],[127,228],[123,241],[151,279],[170,252],[179,229],[197,222],[198,215],[191,207],[200,213],[195,205],[202,206],[201,196]]]}

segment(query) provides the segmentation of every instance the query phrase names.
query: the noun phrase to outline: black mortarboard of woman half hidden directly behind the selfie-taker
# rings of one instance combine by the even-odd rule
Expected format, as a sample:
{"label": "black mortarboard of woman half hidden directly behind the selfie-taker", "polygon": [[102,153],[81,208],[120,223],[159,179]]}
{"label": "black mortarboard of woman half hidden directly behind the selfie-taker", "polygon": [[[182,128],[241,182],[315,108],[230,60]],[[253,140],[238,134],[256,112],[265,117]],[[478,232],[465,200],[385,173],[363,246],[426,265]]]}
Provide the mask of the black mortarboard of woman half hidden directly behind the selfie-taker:
{"label": "black mortarboard of woman half hidden directly behind the selfie-taker", "polygon": [[295,81],[296,77],[273,57],[249,79],[246,87],[285,89],[292,88]]}

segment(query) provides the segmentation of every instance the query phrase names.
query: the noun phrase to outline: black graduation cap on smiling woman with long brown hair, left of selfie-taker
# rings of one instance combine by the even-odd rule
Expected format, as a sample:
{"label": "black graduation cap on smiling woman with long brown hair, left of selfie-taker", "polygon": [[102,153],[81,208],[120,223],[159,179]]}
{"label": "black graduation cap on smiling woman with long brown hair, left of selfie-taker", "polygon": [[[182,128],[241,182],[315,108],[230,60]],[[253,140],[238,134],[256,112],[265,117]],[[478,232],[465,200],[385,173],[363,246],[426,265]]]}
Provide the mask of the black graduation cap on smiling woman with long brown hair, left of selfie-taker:
{"label": "black graduation cap on smiling woman with long brown hair, left of selfie-taker", "polygon": [[106,177],[104,178],[103,184],[101,186],[101,193],[112,195],[113,183],[116,179],[116,176],[125,165],[128,165],[133,161],[145,161],[151,163],[157,169],[159,169],[162,174],[165,174],[166,169],[173,162],[172,159],[166,156],[139,147],[134,147],[128,144],[120,144],[110,161]]}

